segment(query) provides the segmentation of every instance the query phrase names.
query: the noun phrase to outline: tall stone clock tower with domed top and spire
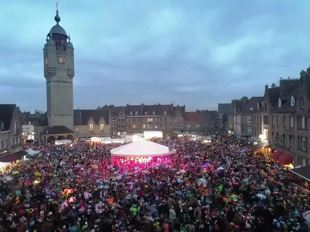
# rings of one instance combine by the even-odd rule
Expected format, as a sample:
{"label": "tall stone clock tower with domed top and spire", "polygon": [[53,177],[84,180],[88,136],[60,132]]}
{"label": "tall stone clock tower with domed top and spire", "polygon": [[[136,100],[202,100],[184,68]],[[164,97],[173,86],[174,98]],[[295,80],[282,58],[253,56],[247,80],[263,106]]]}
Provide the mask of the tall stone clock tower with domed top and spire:
{"label": "tall stone clock tower with domed top and spire", "polygon": [[47,34],[43,48],[48,126],[73,130],[74,49],[70,35],[59,25],[58,8],[54,19],[56,25]]}

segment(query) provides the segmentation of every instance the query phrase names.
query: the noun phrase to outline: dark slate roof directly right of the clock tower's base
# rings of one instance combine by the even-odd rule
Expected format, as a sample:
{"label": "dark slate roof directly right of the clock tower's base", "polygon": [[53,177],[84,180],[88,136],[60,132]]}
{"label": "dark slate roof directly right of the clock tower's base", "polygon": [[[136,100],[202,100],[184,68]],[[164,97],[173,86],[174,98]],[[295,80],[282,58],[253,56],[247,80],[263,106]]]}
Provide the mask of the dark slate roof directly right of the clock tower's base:
{"label": "dark slate roof directly right of the clock tower's base", "polygon": [[109,124],[109,110],[73,110],[74,126],[87,125],[91,117],[95,125],[99,124],[101,117],[104,119],[105,124]]}

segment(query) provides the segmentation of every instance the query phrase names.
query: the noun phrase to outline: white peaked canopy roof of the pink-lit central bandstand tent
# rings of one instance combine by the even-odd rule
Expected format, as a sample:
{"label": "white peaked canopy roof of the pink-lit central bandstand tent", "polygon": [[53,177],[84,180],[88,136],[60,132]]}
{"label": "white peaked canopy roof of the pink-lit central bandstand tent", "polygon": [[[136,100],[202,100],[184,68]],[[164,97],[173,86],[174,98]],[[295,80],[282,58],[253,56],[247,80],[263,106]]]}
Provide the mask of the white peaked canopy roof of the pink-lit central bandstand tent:
{"label": "white peaked canopy roof of the pink-lit central bandstand tent", "polygon": [[169,151],[169,148],[164,145],[140,139],[130,144],[126,144],[121,147],[112,149],[111,156],[153,157],[167,156],[175,152],[176,150]]}

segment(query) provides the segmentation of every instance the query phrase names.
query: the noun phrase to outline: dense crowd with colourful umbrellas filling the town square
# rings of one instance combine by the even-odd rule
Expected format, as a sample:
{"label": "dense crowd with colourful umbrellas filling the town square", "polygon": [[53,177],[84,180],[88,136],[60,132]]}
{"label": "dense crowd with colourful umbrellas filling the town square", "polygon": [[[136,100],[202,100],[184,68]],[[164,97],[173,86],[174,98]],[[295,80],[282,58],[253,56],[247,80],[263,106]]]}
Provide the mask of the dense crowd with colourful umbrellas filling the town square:
{"label": "dense crowd with colourful umbrellas filling the town square", "polygon": [[2,173],[0,232],[308,231],[303,180],[226,135],[172,140],[177,161],[147,165],[112,165],[122,144],[41,144]]}

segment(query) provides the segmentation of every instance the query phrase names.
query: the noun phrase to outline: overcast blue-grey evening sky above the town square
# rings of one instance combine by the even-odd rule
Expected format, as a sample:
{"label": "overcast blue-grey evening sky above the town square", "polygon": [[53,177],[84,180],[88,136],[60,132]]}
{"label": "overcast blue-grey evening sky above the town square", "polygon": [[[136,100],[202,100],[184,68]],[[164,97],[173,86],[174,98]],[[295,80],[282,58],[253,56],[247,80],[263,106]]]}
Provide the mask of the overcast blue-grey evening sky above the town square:
{"label": "overcast blue-grey evening sky above the town square", "polygon": [[[2,1],[0,103],[46,110],[55,1]],[[310,1],[60,0],[75,48],[74,108],[217,109],[310,65]]]}

